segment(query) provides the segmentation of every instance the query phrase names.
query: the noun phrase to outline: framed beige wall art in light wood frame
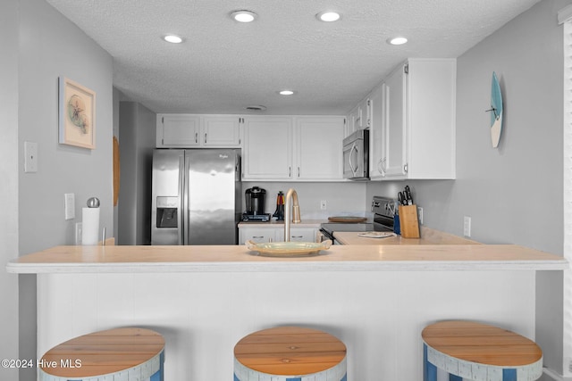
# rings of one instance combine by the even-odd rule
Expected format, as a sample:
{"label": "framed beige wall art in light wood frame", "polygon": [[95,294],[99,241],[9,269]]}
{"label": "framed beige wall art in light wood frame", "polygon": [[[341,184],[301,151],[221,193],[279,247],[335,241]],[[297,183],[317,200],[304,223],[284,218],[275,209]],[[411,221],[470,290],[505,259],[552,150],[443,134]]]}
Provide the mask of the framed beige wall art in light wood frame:
{"label": "framed beige wall art in light wood frame", "polygon": [[96,148],[96,93],[79,83],[59,79],[59,139],[63,145]]}

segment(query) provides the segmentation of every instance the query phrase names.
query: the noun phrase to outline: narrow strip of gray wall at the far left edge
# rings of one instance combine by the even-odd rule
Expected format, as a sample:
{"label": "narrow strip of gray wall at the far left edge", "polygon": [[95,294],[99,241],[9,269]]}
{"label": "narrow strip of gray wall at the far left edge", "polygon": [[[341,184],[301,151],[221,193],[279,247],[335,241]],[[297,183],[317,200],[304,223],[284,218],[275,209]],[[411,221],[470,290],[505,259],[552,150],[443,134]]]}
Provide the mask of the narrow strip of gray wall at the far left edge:
{"label": "narrow strip of gray wall at the far left edge", "polygon": [[[0,359],[18,359],[18,277],[6,262],[18,256],[18,3],[0,2]],[[0,368],[0,379],[17,379]]]}

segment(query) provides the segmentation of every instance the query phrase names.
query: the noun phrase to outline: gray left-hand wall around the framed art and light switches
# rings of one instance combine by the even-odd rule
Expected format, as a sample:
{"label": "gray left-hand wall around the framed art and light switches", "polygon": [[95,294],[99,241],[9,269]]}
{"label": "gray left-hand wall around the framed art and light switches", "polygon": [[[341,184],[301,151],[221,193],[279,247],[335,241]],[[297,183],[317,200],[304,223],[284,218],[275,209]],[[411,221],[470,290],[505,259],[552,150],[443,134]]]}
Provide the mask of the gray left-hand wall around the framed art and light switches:
{"label": "gray left-hand wall around the framed art and light switches", "polygon": [[[26,254],[58,244],[74,244],[75,223],[81,221],[81,207],[90,196],[97,196],[101,201],[101,227],[113,231],[113,60],[45,1],[9,0],[7,3],[19,10],[19,20],[13,17],[16,23],[12,31],[12,37],[19,41],[12,52],[18,56],[18,70],[13,72],[14,77],[17,74],[18,87],[13,91],[4,87],[3,82],[0,94],[18,95],[18,122],[8,127],[18,133],[17,147],[22,149],[24,141],[38,143],[37,173],[24,173],[23,161],[18,160],[19,218],[15,220],[18,220],[18,253]],[[97,94],[95,150],[58,144],[60,76],[75,80]],[[7,152],[12,161],[23,157],[13,148]],[[75,219],[64,219],[65,193],[75,194]],[[9,207],[16,203],[13,198],[2,200]],[[14,252],[8,254],[14,255]],[[20,277],[19,287],[20,355],[15,358],[35,359],[35,277]],[[7,335],[13,335],[17,326],[7,329]],[[25,379],[36,379],[36,369],[21,372],[21,380]]]}

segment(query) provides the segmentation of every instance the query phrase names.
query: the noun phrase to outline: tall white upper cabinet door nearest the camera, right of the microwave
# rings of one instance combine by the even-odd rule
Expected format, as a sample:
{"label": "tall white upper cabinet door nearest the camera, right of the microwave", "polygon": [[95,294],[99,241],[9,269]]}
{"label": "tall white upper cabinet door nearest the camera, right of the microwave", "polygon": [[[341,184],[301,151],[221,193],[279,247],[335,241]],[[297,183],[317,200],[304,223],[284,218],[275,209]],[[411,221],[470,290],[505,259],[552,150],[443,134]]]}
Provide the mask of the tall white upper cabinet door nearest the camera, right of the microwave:
{"label": "tall white upper cabinet door nearest the camera, right of the microwave", "polygon": [[383,83],[385,96],[385,177],[403,178],[407,174],[407,75],[405,66],[393,71]]}

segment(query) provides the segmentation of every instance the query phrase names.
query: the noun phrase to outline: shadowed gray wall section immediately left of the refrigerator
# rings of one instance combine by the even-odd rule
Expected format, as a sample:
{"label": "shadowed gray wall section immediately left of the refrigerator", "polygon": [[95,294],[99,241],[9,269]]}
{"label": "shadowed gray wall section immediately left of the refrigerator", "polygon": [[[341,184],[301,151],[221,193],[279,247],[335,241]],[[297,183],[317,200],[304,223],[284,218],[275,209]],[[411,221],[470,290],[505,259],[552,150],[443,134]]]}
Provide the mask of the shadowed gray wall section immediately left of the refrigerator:
{"label": "shadowed gray wall section immediately left of the refrigerator", "polygon": [[119,104],[121,181],[117,244],[151,244],[151,170],[156,113],[136,102]]}

